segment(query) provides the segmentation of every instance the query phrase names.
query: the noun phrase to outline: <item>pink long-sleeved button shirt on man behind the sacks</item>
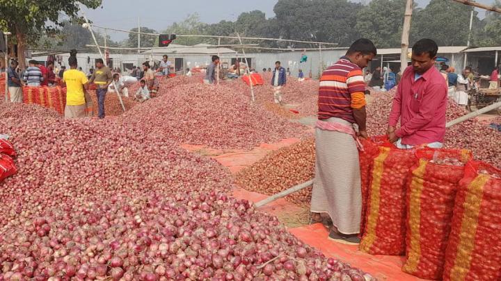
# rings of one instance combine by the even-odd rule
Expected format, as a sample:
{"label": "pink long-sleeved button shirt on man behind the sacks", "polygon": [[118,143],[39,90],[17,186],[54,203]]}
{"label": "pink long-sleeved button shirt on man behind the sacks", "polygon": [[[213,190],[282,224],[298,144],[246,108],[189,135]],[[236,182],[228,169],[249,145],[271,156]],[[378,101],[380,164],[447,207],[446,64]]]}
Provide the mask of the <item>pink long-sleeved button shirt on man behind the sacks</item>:
{"label": "pink long-sleeved button shirt on man behind the sacks", "polygon": [[447,84],[440,72],[431,67],[415,80],[413,67],[407,67],[393,99],[390,126],[402,144],[420,145],[443,142],[445,111],[447,110]]}

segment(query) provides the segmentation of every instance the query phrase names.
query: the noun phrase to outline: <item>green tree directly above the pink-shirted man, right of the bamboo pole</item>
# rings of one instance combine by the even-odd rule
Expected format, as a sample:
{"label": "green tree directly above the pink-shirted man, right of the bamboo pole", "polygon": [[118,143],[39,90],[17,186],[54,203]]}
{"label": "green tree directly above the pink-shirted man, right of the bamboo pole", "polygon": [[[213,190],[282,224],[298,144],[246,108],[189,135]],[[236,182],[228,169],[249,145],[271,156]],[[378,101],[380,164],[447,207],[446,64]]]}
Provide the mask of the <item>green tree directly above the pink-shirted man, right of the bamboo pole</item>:
{"label": "green tree directly above the pink-shirted man, right of the bamboo pole", "polygon": [[[413,17],[411,41],[426,37],[435,40],[438,46],[466,46],[471,10],[472,7],[453,1],[431,0]],[[479,24],[477,12],[473,20],[475,25]]]}

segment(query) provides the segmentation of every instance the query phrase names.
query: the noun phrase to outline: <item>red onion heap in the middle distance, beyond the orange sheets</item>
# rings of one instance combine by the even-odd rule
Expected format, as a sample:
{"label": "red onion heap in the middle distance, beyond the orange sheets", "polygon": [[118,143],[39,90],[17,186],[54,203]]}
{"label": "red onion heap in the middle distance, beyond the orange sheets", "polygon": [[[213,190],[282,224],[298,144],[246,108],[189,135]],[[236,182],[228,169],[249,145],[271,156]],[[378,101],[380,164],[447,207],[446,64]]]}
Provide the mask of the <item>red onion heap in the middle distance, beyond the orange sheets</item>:
{"label": "red onion heap in the middle distance, beyond the orange sheets", "polygon": [[305,126],[253,105],[227,85],[191,83],[168,92],[123,115],[127,128],[141,128],[151,139],[172,139],[211,148],[250,149],[287,137],[301,137]]}

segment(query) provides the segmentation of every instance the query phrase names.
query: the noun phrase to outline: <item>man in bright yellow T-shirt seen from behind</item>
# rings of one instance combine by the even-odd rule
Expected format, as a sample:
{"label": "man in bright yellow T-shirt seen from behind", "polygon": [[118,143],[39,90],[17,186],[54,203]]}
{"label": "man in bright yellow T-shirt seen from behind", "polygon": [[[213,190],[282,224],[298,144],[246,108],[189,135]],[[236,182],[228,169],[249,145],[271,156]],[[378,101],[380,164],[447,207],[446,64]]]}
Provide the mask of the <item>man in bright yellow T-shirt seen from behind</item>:
{"label": "man in bright yellow T-shirt seen from behind", "polygon": [[77,58],[68,59],[70,70],[63,74],[63,82],[66,83],[66,118],[86,117],[85,90],[88,79],[82,71],[77,69]]}

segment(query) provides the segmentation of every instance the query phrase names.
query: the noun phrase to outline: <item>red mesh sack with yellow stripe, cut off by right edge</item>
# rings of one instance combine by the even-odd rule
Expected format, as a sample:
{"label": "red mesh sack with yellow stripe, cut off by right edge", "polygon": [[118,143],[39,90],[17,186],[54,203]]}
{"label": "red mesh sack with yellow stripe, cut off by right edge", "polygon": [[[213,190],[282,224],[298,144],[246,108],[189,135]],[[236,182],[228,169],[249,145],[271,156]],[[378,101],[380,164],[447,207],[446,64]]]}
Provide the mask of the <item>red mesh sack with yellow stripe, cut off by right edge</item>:
{"label": "red mesh sack with yellow stripe, cut off by right edge", "polygon": [[466,164],[456,194],[443,280],[501,280],[501,170]]}

